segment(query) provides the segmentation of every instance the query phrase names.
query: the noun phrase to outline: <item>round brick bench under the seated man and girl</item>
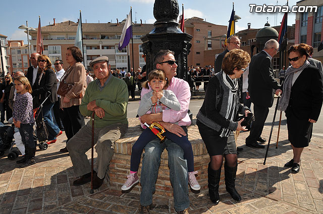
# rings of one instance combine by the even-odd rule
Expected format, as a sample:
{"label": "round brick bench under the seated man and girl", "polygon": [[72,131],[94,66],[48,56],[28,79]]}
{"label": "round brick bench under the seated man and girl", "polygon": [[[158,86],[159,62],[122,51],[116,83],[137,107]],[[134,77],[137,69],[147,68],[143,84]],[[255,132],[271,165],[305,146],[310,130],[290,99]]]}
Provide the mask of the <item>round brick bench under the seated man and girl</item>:
{"label": "round brick bench under the seated man and girl", "polygon": [[[130,173],[131,148],[141,133],[139,120],[137,118],[128,118],[128,121],[129,129],[121,139],[116,141],[115,154],[110,164],[110,186],[111,188],[117,190],[121,190],[121,186],[126,181],[127,175]],[[207,154],[204,142],[202,141],[198,132],[197,126],[193,125],[188,128],[188,136],[192,144],[194,154],[194,170],[198,171],[197,181],[199,182],[201,189],[207,189],[207,165],[210,158]],[[138,171],[139,177],[141,173],[141,164],[142,163],[140,162]],[[171,185],[169,175],[170,171],[168,167],[168,154],[167,150],[165,150],[161,154],[158,178],[156,181],[156,191],[154,195],[163,197],[173,196],[173,187]],[[220,184],[222,184],[224,181],[224,171],[222,172],[221,176]],[[135,185],[128,191],[140,193],[140,184]]]}

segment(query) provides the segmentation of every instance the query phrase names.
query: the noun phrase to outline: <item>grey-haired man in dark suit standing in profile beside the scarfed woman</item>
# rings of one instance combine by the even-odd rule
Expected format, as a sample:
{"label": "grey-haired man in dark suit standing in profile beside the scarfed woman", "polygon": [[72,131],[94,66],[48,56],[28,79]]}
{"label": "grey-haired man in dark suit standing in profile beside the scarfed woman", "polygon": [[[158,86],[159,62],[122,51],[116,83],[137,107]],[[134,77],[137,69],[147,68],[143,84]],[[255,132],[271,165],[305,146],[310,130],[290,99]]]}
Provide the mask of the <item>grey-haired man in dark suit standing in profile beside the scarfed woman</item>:
{"label": "grey-haired man in dark suit standing in profile beside the scarfed woman", "polygon": [[[279,43],[275,39],[268,40],[264,49],[251,58],[248,75],[248,92],[253,103],[255,121],[252,123],[246,146],[264,148],[259,142],[269,108],[273,106],[274,90],[276,95],[282,93],[281,85],[274,79],[272,59],[277,54]],[[259,142],[258,142],[259,141]]]}

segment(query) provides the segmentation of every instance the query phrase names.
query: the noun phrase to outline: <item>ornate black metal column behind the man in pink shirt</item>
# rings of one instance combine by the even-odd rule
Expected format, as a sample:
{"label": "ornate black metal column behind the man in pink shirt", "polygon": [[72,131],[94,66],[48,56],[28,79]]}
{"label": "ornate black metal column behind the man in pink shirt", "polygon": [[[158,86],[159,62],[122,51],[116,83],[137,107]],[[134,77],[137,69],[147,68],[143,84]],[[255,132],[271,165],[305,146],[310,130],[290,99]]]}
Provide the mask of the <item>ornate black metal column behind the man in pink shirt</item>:
{"label": "ornate black metal column behind the man in pink shirt", "polygon": [[169,49],[175,52],[178,61],[177,78],[187,80],[187,55],[190,52],[192,36],[179,28],[177,0],[155,0],[153,16],[156,19],[154,29],[141,37],[143,53],[146,54],[147,74],[153,67],[153,58],[159,50]]}

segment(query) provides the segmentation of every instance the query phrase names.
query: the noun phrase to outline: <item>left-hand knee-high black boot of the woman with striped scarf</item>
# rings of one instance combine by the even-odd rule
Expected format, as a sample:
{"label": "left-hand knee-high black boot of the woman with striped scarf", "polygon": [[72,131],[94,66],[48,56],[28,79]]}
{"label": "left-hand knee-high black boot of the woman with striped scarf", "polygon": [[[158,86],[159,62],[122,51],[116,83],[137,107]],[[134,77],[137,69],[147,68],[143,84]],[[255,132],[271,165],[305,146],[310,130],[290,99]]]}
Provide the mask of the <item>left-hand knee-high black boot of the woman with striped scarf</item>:
{"label": "left-hand knee-high black boot of the woman with striped scarf", "polygon": [[212,170],[210,164],[207,168],[208,178],[208,194],[213,203],[218,204],[220,201],[219,196],[219,182],[221,176],[221,168],[219,170]]}

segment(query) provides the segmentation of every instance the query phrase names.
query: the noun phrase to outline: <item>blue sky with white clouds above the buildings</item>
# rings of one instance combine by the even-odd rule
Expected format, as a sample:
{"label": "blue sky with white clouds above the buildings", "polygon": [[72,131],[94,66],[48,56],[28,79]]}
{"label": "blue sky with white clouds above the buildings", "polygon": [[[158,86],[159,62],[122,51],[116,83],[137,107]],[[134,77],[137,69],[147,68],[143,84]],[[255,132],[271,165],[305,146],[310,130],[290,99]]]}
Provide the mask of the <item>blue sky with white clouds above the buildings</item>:
{"label": "blue sky with white clouds above the buildings", "polygon": [[[299,1],[299,0],[297,0]],[[289,6],[296,5],[296,0],[290,0]],[[193,16],[206,19],[219,25],[228,25],[232,11],[232,1],[223,0],[180,0],[180,14],[182,13],[182,4],[184,4],[184,17]],[[56,22],[71,20],[76,22],[79,18],[79,10],[82,10],[82,21],[87,23],[104,23],[117,22],[117,18],[121,21],[129,14],[130,6],[132,6],[133,21],[137,22],[142,19],[143,23],[154,23],[153,17],[154,0],[66,0],[66,1],[22,1],[22,0],[6,0],[2,1],[0,13],[0,34],[8,36],[9,39],[23,39],[27,43],[27,36],[23,30],[18,29],[22,24],[26,24],[28,20],[29,27],[37,28],[38,16],[41,17],[41,26]],[[275,26],[274,13],[250,13],[249,4],[276,5],[277,0],[252,0],[235,2],[235,11],[241,17],[236,23],[237,30],[247,28],[247,23],[251,23],[251,28],[262,28],[268,22],[271,26]],[[285,5],[286,1],[278,1],[278,5]],[[20,6],[20,7],[19,7]],[[5,10],[4,10],[5,9]],[[277,25],[283,18],[283,13],[277,14]],[[288,25],[295,24],[295,14],[289,13]]]}

